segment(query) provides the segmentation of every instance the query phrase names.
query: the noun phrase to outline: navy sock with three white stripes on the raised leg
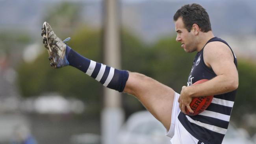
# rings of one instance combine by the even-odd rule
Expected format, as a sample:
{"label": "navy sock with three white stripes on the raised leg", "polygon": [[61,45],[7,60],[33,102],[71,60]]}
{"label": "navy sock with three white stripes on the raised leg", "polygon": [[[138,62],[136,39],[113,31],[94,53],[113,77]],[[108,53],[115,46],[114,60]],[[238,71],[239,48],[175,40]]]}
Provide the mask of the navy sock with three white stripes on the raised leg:
{"label": "navy sock with three white stripes on the raised leg", "polygon": [[66,57],[69,65],[78,68],[85,74],[99,81],[105,87],[122,92],[129,77],[126,70],[118,70],[102,63],[96,63],[72,50],[66,48]]}

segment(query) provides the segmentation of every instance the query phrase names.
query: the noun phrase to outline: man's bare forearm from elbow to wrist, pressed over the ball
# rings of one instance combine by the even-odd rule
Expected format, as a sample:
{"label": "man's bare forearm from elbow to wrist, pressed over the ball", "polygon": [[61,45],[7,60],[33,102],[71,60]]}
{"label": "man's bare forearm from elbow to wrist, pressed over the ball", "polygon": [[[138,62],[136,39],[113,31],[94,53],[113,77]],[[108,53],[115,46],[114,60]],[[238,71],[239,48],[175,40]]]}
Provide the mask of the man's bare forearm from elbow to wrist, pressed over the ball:
{"label": "man's bare forearm from elbow to wrist, pressed over the ball", "polygon": [[204,83],[187,87],[187,92],[191,97],[212,96],[231,92],[237,87],[238,78],[236,76],[222,74]]}

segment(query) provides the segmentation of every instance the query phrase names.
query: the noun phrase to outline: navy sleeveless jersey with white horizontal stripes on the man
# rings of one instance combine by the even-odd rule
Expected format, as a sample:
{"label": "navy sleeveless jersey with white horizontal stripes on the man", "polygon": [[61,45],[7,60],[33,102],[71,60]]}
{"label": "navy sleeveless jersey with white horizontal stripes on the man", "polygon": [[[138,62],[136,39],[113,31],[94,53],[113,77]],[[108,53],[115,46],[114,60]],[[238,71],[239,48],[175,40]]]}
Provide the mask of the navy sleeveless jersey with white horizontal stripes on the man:
{"label": "navy sleeveless jersey with white horizontal stripes on the man", "polygon": [[[226,41],[217,37],[213,37],[206,44],[213,41],[223,42],[230,48]],[[204,48],[195,56],[187,81],[188,86],[200,79],[212,79],[216,76],[213,70],[204,63],[203,52]],[[234,63],[237,66],[236,55],[234,55],[233,51],[232,53]],[[178,120],[191,135],[204,142],[204,144],[221,144],[228,129],[235,95],[236,90],[225,94],[214,95],[211,104],[205,111],[196,116],[187,116],[180,112]]]}

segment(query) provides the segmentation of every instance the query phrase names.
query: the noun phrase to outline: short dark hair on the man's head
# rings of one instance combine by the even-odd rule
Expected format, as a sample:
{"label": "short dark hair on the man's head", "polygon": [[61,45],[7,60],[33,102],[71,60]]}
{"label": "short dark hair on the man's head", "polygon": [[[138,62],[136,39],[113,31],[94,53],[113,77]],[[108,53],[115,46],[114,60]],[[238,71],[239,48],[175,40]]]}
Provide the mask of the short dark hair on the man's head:
{"label": "short dark hair on the man's head", "polygon": [[190,32],[193,24],[197,24],[203,32],[211,31],[211,22],[208,13],[204,7],[199,4],[187,4],[182,6],[173,16],[173,20],[177,21],[182,17],[187,31]]}

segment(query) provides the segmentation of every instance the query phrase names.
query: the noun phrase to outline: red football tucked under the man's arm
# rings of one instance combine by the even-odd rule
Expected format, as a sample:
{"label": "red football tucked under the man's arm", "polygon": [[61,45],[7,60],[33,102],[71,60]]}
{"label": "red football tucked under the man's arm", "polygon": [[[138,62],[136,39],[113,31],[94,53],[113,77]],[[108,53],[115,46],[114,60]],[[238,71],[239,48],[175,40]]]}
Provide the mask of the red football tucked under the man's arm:
{"label": "red football tucked under the man's arm", "polygon": [[[204,83],[206,81],[208,81],[208,79],[201,79],[193,83],[193,85]],[[202,97],[192,98],[192,101],[189,106],[194,111],[194,113],[190,113],[186,107],[186,114],[189,116],[195,116],[197,114],[202,113],[211,104],[212,99],[213,99],[213,96],[202,96]]]}

